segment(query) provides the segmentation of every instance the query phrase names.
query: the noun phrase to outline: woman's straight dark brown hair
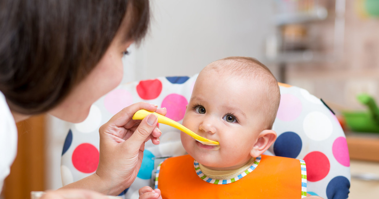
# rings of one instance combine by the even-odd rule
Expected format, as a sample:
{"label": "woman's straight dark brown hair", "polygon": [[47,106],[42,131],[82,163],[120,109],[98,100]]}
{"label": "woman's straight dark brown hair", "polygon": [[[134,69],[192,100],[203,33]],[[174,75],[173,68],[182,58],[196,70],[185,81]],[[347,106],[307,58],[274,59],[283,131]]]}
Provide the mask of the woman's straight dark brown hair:
{"label": "woman's straight dark brown hair", "polygon": [[58,105],[122,23],[125,41],[143,39],[149,13],[148,0],[2,0],[0,91],[11,110],[38,114]]}

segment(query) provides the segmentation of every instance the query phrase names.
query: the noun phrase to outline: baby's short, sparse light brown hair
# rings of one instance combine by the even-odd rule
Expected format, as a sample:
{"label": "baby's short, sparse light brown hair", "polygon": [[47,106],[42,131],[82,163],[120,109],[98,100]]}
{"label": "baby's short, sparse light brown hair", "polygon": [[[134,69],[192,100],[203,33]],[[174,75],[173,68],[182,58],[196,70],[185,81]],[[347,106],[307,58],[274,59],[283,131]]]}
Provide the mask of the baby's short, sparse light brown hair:
{"label": "baby's short, sparse light brown hair", "polygon": [[280,91],[276,78],[263,63],[251,57],[226,57],[210,63],[204,70],[213,69],[247,80],[257,80],[263,88],[262,102],[266,112],[267,125],[265,129],[271,129],[276,118],[280,103]]}

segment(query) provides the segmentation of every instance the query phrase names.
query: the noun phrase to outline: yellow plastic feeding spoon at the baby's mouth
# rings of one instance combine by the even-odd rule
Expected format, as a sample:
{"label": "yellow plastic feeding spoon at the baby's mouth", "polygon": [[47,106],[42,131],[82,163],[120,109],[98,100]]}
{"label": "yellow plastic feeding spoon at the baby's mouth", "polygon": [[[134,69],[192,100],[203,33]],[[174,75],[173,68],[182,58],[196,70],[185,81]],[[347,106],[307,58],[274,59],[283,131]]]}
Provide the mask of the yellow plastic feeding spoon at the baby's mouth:
{"label": "yellow plastic feeding spoon at the baby's mouth", "polygon": [[189,130],[188,128],[186,128],[185,126],[181,125],[180,123],[175,122],[174,120],[169,119],[168,117],[165,117],[165,116],[158,114],[158,113],[155,113],[155,112],[147,111],[144,109],[139,110],[134,114],[133,120],[142,120],[151,113],[153,113],[155,116],[158,117],[158,123],[163,123],[163,124],[172,126],[174,128],[177,128],[180,131],[183,131],[184,133],[193,137],[194,139],[196,139],[197,141],[199,141],[202,144],[212,145],[212,146],[220,145],[220,143],[218,143],[216,141],[208,140],[207,138],[204,138],[204,137],[201,137],[198,134],[196,134],[196,133],[192,132],[191,130]]}

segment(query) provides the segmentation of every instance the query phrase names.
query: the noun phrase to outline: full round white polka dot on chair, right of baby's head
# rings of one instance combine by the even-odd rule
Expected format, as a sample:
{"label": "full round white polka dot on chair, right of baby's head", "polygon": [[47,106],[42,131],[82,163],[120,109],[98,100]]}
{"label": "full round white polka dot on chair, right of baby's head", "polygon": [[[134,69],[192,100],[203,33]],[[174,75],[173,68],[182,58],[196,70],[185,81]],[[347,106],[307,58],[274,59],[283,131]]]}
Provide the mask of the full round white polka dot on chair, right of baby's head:
{"label": "full round white polka dot on chair, right of baby's head", "polygon": [[313,111],[304,118],[304,133],[312,140],[325,140],[332,134],[330,119],[323,113]]}

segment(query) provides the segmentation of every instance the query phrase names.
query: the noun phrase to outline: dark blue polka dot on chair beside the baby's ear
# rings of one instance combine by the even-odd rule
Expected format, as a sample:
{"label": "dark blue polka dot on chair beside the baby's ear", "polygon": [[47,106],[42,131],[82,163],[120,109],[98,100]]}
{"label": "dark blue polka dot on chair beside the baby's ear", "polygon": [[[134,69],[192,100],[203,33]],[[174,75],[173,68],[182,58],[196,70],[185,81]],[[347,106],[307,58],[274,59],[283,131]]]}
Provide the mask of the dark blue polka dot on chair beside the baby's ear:
{"label": "dark blue polka dot on chair beside the baby's ear", "polygon": [[282,157],[298,157],[302,147],[298,134],[288,131],[282,133],[274,143],[274,153]]}

